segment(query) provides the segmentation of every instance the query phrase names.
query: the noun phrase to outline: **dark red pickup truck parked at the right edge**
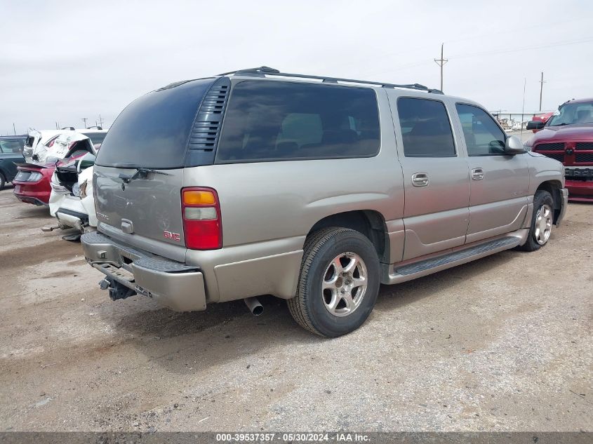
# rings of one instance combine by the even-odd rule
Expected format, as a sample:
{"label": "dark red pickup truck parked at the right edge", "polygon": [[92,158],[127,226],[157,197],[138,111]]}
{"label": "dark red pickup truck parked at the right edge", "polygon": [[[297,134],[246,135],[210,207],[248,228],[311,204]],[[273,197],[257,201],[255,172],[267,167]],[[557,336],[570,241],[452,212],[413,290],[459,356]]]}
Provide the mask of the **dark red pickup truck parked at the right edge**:
{"label": "dark red pickup truck parked at the right edge", "polygon": [[568,199],[593,202],[593,98],[568,100],[547,122],[531,121],[540,130],[525,145],[564,164]]}

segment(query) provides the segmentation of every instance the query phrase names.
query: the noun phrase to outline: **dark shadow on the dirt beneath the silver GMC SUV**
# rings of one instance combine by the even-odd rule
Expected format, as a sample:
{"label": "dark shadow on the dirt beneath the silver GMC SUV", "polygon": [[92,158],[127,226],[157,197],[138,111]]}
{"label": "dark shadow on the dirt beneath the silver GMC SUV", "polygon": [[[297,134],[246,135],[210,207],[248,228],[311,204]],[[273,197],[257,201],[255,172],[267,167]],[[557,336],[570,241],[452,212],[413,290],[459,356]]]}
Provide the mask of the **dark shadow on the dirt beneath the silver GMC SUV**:
{"label": "dark shadow on the dirt beneath the silver GMC SUV", "polygon": [[[374,314],[414,304],[463,280],[479,279],[484,271],[502,266],[517,254],[502,252],[407,283],[382,285]],[[246,356],[259,356],[269,349],[295,342],[315,347],[333,340],[300,328],[283,300],[263,296],[260,301],[265,307],[264,314],[254,317],[242,300],[211,304],[206,311],[191,313],[168,309],[140,311],[144,301],[138,300],[138,311],[128,311],[116,321],[114,328],[128,337],[148,361],[183,374],[216,368]],[[130,308],[135,309],[134,306]],[[372,328],[372,318],[373,314],[367,327]]]}

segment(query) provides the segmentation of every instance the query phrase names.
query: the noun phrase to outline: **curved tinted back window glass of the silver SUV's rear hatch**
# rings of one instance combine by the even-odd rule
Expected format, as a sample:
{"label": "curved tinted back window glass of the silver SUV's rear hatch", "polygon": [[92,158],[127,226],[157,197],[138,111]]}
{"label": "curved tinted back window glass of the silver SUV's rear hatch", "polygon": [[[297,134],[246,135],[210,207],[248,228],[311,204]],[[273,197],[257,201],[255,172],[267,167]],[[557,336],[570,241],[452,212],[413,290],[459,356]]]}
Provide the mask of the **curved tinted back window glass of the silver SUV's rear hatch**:
{"label": "curved tinted back window glass of the silver SUV's rear hatch", "polygon": [[213,79],[189,81],[136,99],[109,128],[97,164],[182,168],[197,109],[212,83]]}

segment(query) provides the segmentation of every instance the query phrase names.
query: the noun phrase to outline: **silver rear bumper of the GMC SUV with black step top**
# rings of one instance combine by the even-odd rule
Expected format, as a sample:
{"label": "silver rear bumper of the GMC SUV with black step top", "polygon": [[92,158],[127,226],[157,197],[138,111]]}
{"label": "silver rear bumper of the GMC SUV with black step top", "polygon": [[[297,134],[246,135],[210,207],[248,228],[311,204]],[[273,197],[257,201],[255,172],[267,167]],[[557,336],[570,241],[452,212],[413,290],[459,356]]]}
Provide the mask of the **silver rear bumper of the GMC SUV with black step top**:
{"label": "silver rear bumper of the GMC SUV with black step top", "polygon": [[175,311],[206,309],[200,267],[131,248],[100,233],[83,234],[81,244],[87,262],[110,280]]}

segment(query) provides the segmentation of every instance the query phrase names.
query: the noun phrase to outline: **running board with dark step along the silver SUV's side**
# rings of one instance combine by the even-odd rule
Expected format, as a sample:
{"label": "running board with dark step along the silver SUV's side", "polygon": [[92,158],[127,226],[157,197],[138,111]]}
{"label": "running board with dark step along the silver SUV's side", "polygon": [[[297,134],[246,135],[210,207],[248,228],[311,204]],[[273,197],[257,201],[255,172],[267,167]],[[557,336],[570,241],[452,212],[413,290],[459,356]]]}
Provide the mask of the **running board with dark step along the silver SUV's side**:
{"label": "running board with dark step along the silver SUV's side", "polygon": [[455,265],[472,262],[472,260],[479,259],[480,257],[486,257],[500,251],[509,250],[510,248],[517,247],[524,243],[528,231],[528,229],[521,229],[515,231],[512,236],[498,238],[469,248],[455,250],[446,255],[431,257],[426,260],[420,260],[419,262],[413,262],[399,267],[395,264],[394,266],[390,266],[391,269],[387,279],[382,283],[394,284],[411,281],[412,279],[421,276],[427,276],[428,274],[436,273],[437,271],[455,267]]}

